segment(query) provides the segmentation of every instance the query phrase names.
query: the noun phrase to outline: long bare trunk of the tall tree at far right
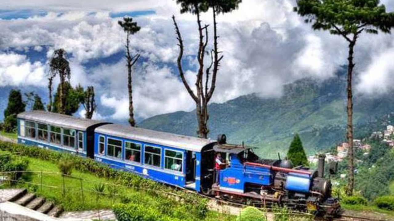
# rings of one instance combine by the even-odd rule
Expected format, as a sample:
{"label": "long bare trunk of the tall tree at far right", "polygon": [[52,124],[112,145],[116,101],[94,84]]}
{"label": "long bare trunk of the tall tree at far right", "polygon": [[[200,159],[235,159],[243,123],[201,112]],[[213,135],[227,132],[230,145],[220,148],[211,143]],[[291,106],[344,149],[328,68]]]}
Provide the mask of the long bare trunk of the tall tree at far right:
{"label": "long bare trunk of the tall tree at far right", "polygon": [[348,188],[346,194],[353,195],[354,188],[354,149],[353,149],[353,94],[352,94],[352,75],[355,64],[353,63],[354,47],[356,45],[357,35],[354,35],[353,40],[349,43],[349,57],[348,57],[348,128],[346,137],[348,139],[348,160],[349,160],[349,175],[348,175]]}

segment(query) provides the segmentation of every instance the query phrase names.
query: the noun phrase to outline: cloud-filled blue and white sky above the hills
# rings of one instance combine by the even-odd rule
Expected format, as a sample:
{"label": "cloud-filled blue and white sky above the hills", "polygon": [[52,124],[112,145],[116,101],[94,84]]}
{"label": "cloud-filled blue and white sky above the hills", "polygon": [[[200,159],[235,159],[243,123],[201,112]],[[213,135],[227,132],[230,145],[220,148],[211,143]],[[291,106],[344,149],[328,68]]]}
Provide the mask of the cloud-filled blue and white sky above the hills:
{"label": "cloud-filled blue and white sky above the hills", "polygon": [[[393,10],[394,2],[382,2]],[[293,12],[294,5],[295,0],[244,0],[238,10],[219,15],[224,59],[213,102],[250,93],[278,97],[286,83],[303,77],[324,81],[346,64],[346,42],[313,31]],[[48,58],[54,49],[64,48],[70,55],[71,83],[93,85],[97,90],[95,118],[124,121],[128,114],[125,35],[117,21],[131,16],[141,26],[131,42],[132,52],[141,54],[133,81],[138,119],[192,110],[193,101],[176,68],[172,15],[185,42],[186,77],[194,85],[195,17],[180,14],[174,0],[4,0],[0,6],[0,98],[4,102],[9,88],[19,88],[37,90],[46,99]],[[202,20],[211,24],[211,12],[203,14]],[[383,34],[361,36],[356,48],[357,93],[384,96],[393,89],[393,39]]]}

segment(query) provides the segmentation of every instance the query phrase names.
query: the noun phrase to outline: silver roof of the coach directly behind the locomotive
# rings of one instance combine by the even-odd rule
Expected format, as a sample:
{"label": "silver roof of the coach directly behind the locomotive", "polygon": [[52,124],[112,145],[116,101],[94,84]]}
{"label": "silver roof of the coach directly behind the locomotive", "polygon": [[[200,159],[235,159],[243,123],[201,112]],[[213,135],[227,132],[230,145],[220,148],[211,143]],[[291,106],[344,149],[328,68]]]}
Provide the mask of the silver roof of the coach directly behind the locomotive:
{"label": "silver roof of the coach directly behind the locomotive", "polygon": [[108,134],[130,140],[148,142],[152,144],[175,147],[195,152],[201,152],[204,146],[216,143],[216,141],[201,139],[191,136],[152,131],[140,127],[130,127],[119,124],[107,124],[95,129],[96,133]]}

